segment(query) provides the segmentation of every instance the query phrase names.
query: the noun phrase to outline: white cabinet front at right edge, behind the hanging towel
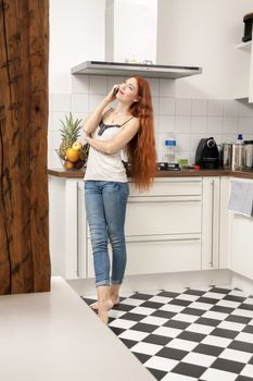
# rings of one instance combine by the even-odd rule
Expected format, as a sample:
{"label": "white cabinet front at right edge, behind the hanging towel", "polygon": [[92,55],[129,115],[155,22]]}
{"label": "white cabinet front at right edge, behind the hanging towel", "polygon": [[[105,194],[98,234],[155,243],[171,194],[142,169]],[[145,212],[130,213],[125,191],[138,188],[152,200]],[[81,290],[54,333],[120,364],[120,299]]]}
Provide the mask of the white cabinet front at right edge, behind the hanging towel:
{"label": "white cabinet front at right edge, behind the hanging towel", "polygon": [[[235,180],[230,179],[230,185]],[[253,218],[228,212],[228,253],[229,269],[253,280]]]}

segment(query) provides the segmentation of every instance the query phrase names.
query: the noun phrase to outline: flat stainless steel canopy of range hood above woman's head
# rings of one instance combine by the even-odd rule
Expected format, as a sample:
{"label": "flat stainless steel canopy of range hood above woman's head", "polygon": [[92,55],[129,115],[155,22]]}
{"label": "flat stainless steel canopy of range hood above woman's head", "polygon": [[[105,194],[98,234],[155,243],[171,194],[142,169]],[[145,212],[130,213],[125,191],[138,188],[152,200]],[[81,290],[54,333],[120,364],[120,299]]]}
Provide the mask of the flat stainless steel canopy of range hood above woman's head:
{"label": "flat stainless steel canopy of range hood above woman's head", "polygon": [[86,61],[72,67],[72,74],[93,74],[109,76],[130,76],[134,74],[149,78],[181,78],[201,74],[199,66],[156,65],[144,63]]}

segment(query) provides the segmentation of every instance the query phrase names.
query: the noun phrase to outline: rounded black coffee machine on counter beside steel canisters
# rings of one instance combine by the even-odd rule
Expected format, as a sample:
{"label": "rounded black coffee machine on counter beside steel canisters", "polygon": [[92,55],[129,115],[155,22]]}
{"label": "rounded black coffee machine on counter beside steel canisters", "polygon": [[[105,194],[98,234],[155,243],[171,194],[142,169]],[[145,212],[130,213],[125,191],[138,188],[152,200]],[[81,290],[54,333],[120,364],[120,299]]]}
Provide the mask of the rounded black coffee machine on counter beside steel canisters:
{"label": "rounded black coffee machine on counter beside steel canisters", "polygon": [[213,137],[200,139],[195,151],[195,164],[208,170],[219,168],[219,151]]}

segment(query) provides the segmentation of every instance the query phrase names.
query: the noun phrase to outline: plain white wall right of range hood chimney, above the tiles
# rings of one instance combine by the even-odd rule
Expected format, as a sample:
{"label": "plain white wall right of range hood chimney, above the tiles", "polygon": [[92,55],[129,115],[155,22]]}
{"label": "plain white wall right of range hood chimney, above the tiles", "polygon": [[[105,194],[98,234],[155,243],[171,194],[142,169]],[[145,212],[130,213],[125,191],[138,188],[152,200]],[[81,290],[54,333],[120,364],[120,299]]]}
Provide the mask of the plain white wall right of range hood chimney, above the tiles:
{"label": "plain white wall right of range hood chimney, above the tiles", "polygon": [[159,0],[157,63],[203,66],[177,81],[177,97],[233,98],[244,67],[236,45],[252,11],[253,0]]}

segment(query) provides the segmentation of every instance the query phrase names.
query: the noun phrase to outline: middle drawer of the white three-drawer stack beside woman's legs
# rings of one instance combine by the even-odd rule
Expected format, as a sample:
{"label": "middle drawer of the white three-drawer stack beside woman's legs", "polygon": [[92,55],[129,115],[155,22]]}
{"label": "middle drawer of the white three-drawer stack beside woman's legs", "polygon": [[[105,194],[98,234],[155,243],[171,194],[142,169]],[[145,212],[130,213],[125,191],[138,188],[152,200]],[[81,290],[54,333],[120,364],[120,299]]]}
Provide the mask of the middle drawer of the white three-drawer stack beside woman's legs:
{"label": "middle drawer of the white three-drawer stack beside woman's legs", "polygon": [[126,235],[155,235],[201,232],[201,200],[129,199],[126,214]]}

